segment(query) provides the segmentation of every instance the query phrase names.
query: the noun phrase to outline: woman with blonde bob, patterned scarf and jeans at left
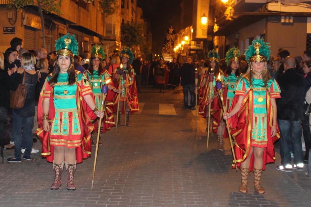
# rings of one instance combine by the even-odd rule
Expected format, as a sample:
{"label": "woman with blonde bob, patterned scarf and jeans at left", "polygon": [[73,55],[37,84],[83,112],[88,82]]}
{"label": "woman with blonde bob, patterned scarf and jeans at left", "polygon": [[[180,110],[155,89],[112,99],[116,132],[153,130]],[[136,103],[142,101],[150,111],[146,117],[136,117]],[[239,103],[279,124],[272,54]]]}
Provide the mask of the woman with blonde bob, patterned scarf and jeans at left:
{"label": "woman with blonde bob, patterned scarf and jeans at left", "polygon": [[[22,84],[26,85],[27,94],[24,105],[21,104],[18,107],[14,107],[15,109],[12,111],[15,153],[14,157],[7,159],[8,162],[21,162],[22,129],[23,145],[26,147],[23,158],[30,160],[30,152],[32,150],[32,122],[35,116],[35,86],[38,82],[35,62],[35,56],[29,52],[24,53],[21,57],[21,66],[24,69]],[[13,104],[12,102],[10,103],[11,108]]]}

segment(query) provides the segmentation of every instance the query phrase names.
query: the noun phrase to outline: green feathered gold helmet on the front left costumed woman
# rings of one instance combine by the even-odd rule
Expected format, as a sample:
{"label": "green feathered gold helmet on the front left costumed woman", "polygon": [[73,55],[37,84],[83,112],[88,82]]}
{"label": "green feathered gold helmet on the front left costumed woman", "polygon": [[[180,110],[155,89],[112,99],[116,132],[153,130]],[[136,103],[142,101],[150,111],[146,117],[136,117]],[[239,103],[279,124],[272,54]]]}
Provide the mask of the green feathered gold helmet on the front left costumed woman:
{"label": "green feathered gold helmet on the front left costumed woman", "polygon": [[74,57],[78,55],[78,42],[75,38],[75,35],[71,36],[70,34],[66,34],[65,36],[56,40],[56,55],[63,55],[68,57]]}

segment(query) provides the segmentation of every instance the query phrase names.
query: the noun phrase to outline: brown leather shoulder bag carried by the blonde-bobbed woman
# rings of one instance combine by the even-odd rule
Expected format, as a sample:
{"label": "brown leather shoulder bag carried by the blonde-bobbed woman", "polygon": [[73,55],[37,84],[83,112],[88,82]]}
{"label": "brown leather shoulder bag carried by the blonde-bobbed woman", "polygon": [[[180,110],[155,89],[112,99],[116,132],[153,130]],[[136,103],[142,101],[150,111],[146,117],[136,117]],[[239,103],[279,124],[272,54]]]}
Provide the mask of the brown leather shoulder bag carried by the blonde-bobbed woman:
{"label": "brown leather shoulder bag carried by the blonde-bobbed woman", "polygon": [[25,99],[27,95],[27,86],[24,84],[25,77],[26,77],[25,70],[24,70],[23,76],[24,76],[23,82],[18,85],[18,87],[16,88],[16,91],[11,90],[11,97],[10,97],[10,108],[11,109],[20,109],[24,107]]}

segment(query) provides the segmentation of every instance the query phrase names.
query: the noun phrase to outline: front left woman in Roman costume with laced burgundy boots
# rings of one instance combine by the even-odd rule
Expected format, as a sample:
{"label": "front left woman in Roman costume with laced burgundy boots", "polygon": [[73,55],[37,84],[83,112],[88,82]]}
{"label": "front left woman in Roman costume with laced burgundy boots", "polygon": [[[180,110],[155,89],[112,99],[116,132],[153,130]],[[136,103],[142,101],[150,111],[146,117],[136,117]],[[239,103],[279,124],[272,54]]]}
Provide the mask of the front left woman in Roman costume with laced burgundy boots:
{"label": "front left woman in Roman costume with laced burgundy boots", "polygon": [[75,37],[67,34],[57,40],[55,47],[57,61],[40,92],[37,135],[42,141],[42,157],[53,163],[55,177],[50,189],[62,185],[65,165],[67,189],[76,190],[77,163],[91,155],[92,121],[103,118],[104,112],[96,107],[85,75],[73,66],[78,52]]}

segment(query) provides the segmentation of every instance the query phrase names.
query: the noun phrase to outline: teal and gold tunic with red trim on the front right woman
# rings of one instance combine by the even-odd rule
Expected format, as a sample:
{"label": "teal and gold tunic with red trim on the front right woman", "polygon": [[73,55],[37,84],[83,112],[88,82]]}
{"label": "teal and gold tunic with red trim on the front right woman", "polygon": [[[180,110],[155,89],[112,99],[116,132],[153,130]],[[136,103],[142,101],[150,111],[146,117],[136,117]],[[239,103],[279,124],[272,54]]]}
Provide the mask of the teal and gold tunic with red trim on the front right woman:
{"label": "teal and gold tunic with red trim on the front right woman", "polygon": [[236,95],[245,96],[253,89],[253,125],[251,146],[267,147],[267,92],[271,98],[280,98],[280,87],[276,80],[270,79],[264,87],[262,79],[252,79],[252,86],[246,78],[242,78],[236,86]]}

